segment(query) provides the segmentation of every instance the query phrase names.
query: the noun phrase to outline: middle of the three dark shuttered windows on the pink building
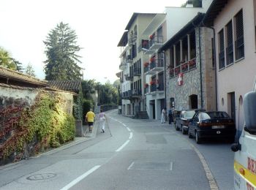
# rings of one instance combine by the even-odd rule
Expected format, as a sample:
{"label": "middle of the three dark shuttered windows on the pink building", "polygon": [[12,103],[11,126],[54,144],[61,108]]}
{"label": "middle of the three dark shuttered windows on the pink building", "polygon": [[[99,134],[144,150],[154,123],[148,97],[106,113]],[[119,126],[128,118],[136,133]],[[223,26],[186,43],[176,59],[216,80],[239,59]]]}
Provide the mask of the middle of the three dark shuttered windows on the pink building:
{"label": "middle of the three dark shuttered windows on the pink building", "polygon": [[227,47],[226,47],[226,55],[227,55],[227,65],[233,63],[233,28],[232,28],[232,20],[227,23],[226,26],[226,39],[227,39]]}

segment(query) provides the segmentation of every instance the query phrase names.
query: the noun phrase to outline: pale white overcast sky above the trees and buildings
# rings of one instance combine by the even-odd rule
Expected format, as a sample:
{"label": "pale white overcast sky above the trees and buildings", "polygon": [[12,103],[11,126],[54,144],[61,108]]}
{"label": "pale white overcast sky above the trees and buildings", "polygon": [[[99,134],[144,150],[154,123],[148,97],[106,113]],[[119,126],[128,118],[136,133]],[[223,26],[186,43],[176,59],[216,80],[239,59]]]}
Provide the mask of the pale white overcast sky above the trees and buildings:
{"label": "pale white overcast sky above the trees and buildings", "polygon": [[75,30],[79,64],[84,80],[113,83],[118,79],[120,47],[117,47],[133,12],[162,13],[186,0],[0,0],[0,47],[23,68],[33,67],[44,80],[46,60],[43,41],[61,21]]}

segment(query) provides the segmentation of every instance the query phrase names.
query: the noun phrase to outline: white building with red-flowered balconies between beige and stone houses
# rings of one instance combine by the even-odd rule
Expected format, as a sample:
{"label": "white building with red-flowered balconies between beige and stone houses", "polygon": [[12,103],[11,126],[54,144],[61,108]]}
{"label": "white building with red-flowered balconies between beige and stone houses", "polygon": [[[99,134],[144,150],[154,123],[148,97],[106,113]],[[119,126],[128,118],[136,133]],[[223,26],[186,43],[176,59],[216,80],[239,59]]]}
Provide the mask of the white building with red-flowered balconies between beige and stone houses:
{"label": "white building with red-flowered balconies between beige and stone houses", "polygon": [[185,7],[165,7],[165,13],[157,14],[143,31],[142,50],[149,55],[148,60],[143,63],[144,75],[146,75],[144,94],[146,110],[151,119],[161,118],[161,110],[168,107],[167,99],[170,98],[167,97],[171,93],[176,93],[174,89],[170,92],[169,75],[166,75],[166,54],[165,50],[159,48],[175,36],[191,18],[194,18],[197,12],[206,12],[211,4],[211,1],[206,0],[198,2],[195,4],[193,1],[188,1]]}

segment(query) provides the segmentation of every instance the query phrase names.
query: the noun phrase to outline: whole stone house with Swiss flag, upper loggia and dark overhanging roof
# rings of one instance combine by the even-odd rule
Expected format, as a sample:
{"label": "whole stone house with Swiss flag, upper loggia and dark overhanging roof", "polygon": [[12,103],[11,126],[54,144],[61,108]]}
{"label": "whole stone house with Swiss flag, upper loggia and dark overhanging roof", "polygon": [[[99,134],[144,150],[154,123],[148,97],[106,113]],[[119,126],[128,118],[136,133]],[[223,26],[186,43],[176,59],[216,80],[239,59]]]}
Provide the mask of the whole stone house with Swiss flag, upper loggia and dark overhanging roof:
{"label": "whole stone house with Swiss flag, upper loggia and dark overhanging roof", "polygon": [[159,49],[165,52],[167,107],[216,109],[214,31],[201,26],[203,18],[198,12]]}

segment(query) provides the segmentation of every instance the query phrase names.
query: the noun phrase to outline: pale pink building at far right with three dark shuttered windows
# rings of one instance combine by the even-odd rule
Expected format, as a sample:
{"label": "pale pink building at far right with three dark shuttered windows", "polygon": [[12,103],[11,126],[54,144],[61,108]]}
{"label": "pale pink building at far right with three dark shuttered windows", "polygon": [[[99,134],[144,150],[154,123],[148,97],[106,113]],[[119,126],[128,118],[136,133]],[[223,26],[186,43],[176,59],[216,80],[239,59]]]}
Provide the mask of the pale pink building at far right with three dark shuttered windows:
{"label": "pale pink building at far right with three dark shuttered windows", "polygon": [[203,21],[214,28],[217,109],[244,124],[244,94],[252,91],[256,64],[256,1],[214,0]]}

